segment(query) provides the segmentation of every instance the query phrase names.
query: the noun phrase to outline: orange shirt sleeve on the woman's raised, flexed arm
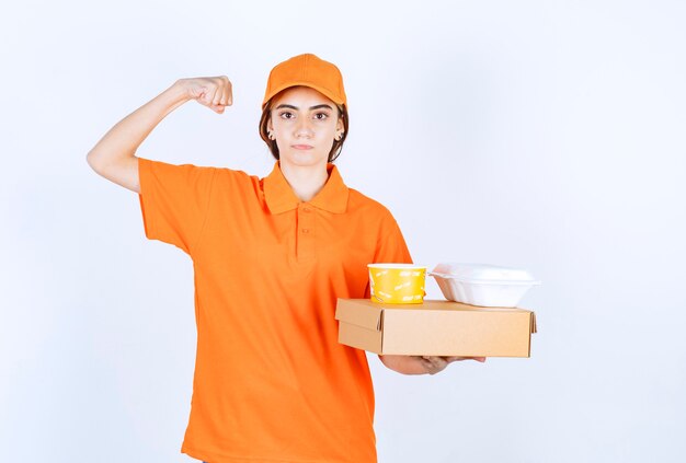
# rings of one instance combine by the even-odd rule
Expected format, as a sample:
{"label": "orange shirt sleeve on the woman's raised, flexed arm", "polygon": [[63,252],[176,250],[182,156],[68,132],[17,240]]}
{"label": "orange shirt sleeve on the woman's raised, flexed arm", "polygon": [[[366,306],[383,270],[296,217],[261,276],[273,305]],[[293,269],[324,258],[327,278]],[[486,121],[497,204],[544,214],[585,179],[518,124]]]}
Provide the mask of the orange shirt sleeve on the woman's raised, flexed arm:
{"label": "orange shirt sleeve on the woman's raised, flexed arm", "polygon": [[209,205],[216,169],[138,159],[140,210],[146,236],[191,254]]}

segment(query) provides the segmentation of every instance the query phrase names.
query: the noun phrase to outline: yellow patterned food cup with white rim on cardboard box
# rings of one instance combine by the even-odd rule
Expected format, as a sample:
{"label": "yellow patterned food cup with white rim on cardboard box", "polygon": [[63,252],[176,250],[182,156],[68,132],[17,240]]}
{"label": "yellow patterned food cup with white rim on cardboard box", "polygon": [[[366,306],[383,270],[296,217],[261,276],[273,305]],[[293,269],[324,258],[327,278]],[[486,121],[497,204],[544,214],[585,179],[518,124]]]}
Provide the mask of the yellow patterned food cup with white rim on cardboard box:
{"label": "yellow patterned food cup with white rim on cardboard box", "polygon": [[373,302],[421,304],[424,302],[426,267],[413,264],[369,264]]}

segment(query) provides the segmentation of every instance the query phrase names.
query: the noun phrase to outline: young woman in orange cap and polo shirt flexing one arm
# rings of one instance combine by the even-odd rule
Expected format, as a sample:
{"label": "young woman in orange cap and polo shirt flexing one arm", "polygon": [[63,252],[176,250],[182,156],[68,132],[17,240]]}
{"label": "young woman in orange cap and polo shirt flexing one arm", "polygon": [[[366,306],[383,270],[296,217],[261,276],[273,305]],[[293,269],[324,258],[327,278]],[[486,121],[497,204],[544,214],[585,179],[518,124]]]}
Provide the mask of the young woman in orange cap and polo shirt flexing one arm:
{"label": "young woman in orange cap and polo shirt flexing one arm", "polygon": [[[390,212],[331,163],[348,129],[339,69],[300,55],[272,70],[260,134],[277,162],[264,178],[136,157],[173,109],[195,100],[222,113],[231,92],[226,77],[181,79],[88,154],[139,194],[146,235],[193,259],[197,358],[182,452],[210,463],[375,462],[369,368],[364,351],[338,343],[335,303],[368,297],[367,264],[411,258]],[[456,360],[381,357],[405,374]]]}

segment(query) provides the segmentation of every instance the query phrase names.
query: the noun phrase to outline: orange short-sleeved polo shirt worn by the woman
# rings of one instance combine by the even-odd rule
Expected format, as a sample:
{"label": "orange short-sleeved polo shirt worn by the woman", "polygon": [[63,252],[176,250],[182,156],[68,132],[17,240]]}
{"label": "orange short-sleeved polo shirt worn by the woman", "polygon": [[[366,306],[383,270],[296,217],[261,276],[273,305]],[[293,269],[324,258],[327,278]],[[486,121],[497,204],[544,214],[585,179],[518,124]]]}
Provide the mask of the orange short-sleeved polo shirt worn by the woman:
{"label": "orange short-sleeved polo shirt worn by the woman", "polygon": [[329,172],[301,202],[278,164],[260,180],[139,160],[146,235],[195,271],[193,458],[376,462],[366,356],[338,343],[335,303],[368,294],[368,263],[411,261],[390,212]]}

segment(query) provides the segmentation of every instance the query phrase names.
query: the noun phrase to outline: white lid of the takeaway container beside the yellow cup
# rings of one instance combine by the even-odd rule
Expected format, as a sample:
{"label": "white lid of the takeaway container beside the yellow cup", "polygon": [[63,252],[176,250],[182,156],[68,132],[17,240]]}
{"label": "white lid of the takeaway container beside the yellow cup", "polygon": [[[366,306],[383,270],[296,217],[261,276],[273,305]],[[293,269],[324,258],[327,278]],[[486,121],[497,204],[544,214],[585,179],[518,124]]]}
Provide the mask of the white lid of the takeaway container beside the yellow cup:
{"label": "white lid of the takeaway container beside the yellow cup", "polygon": [[540,285],[526,270],[489,264],[447,262],[438,264],[431,275],[472,283]]}

